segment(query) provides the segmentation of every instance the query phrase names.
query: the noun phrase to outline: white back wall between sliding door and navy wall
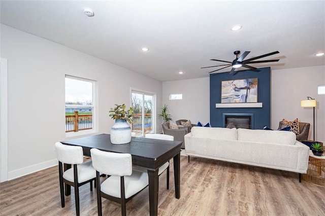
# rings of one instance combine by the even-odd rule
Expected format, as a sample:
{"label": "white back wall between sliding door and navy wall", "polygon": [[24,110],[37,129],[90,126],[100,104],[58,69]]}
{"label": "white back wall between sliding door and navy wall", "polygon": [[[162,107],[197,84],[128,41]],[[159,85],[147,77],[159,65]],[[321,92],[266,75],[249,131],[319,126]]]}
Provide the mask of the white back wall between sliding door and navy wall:
{"label": "white back wall between sliding door and navy wall", "polygon": [[[210,122],[210,78],[163,82],[163,105],[169,107],[173,121]],[[182,100],[169,100],[170,93],[182,93]],[[159,113],[161,110],[157,109]]]}

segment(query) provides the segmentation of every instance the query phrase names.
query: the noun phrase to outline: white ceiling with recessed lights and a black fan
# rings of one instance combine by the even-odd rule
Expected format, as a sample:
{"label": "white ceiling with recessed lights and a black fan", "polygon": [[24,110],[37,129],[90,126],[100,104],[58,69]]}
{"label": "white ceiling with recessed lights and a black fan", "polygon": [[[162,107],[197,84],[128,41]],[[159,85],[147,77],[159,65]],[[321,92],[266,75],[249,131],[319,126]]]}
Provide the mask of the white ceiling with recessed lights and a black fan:
{"label": "white ceiling with recessed lights and a black fan", "polygon": [[[325,52],[325,1],[1,0],[0,7],[5,25],[159,81],[208,77],[218,67],[200,67],[232,61],[236,50],[251,51],[245,59],[278,50],[258,60],[279,62],[251,65],[273,70],[325,64],[314,56]],[[243,28],[232,31],[235,24]]]}

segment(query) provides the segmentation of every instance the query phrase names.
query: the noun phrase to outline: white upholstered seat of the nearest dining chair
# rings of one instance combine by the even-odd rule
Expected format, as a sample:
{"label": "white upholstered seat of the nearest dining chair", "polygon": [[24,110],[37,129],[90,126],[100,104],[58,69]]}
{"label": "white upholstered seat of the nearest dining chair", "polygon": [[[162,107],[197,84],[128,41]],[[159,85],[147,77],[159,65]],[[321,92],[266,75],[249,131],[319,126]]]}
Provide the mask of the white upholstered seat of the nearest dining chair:
{"label": "white upholstered seat of the nearest dining chair", "polygon": [[[101,184],[101,191],[107,195],[121,198],[120,176],[112,175]],[[133,170],[132,175],[124,176],[125,198],[132,197],[149,184],[148,174]]]}

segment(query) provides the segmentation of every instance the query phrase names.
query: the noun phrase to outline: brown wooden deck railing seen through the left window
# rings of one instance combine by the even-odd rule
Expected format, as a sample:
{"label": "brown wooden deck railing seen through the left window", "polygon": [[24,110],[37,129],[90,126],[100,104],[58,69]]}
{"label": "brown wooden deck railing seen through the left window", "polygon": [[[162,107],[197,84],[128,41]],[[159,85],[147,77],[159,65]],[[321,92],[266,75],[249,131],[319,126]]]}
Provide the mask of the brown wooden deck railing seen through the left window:
{"label": "brown wooden deck railing seen through the left window", "polygon": [[92,114],[79,115],[78,111],[75,111],[74,115],[66,115],[66,132],[89,129],[92,129]]}

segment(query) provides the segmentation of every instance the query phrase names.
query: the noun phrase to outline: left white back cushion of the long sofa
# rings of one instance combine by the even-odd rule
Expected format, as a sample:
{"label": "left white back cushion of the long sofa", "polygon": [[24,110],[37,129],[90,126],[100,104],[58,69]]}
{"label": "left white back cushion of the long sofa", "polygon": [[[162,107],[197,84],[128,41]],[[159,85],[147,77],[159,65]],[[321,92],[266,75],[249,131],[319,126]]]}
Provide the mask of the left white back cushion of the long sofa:
{"label": "left white back cushion of the long sofa", "polygon": [[196,137],[237,140],[236,128],[192,127],[191,134]]}

